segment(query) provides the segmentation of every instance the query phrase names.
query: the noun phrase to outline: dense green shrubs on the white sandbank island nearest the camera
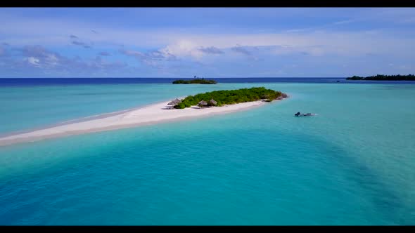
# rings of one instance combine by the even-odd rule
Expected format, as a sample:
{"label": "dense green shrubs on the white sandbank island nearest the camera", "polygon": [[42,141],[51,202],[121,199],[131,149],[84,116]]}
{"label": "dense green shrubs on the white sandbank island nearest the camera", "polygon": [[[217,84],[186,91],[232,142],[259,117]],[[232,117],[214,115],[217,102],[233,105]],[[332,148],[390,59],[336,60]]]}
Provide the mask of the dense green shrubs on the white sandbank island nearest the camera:
{"label": "dense green shrubs on the white sandbank island nearest the camera", "polygon": [[202,100],[206,101],[208,106],[215,105],[210,100],[215,100],[217,102],[216,106],[222,106],[257,100],[272,102],[272,100],[281,98],[287,98],[287,95],[280,91],[274,91],[264,87],[242,88],[238,90],[211,91],[197,95],[189,95],[184,100],[181,100],[179,104],[175,105],[174,108],[183,109],[185,107],[191,107],[198,105]]}

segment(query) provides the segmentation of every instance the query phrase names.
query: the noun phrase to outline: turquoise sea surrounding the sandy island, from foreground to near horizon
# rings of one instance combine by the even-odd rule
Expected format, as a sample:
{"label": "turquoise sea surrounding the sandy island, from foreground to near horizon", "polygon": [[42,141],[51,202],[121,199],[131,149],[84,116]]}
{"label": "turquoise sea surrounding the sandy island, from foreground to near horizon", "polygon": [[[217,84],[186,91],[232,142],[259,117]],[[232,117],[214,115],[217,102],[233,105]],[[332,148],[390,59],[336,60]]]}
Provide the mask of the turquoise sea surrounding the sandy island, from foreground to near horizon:
{"label": "turquoise sea surrounding the sandy island, from foreground to near horizon", "polygon": [[0,225],[415,224],[415,85],[10,87],[0,133],[252,86],[291,98],[0,147]]}

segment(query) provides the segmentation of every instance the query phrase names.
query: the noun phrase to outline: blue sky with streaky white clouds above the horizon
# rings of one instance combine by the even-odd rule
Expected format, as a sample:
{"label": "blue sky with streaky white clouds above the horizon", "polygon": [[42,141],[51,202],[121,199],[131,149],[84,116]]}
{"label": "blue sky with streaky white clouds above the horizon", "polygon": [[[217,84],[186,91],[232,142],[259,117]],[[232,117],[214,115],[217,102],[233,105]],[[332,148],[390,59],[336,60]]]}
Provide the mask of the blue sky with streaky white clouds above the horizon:
{"label": "blue sky with streaky white clouds above the horizon", "polygon": [[0,78],[415,74],[415,8],[0,8]]}

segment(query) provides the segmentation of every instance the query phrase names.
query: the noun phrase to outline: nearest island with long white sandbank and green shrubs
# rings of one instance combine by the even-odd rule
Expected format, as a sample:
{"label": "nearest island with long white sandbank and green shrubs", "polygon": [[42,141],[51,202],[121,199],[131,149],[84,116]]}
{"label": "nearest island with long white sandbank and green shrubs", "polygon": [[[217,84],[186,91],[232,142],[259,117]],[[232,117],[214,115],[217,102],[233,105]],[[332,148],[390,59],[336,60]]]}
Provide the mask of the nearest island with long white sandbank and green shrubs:
{"label": "nearest island with long white sandbank and green shrubs", "polygon": [[264,87],[200,93],[180,98],[181,100],[177,98],[171,102],[163,101],[137,109],[126,109],[121,112],[89,117],[82,121],[70,121],[68,124],[59,124],[58,126],[4,137],[0,136],[0,146],[67,135],[145,126],[167,121],[179,121],[193,117],[212,116],[212,114],[226,114],[259,107],[266,105],[266,102],[282,100],[287,97],[286,93]]}

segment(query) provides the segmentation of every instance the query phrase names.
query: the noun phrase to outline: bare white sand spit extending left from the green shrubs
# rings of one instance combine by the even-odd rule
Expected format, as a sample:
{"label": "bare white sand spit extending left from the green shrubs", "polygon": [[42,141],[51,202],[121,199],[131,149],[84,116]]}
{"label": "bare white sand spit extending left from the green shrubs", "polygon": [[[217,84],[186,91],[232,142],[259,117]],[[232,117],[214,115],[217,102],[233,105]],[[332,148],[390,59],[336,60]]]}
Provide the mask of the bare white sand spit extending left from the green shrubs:
{"label": "bare white sand spit extending left from the green shrubs", "polygon": [[[169,102],[169,101],[168,101]],[[10,145],[18,142],[33,142],[46,138],[56,138],[65,135],[76,135],[98,131],[109,131],[117,128],[128,128],[159,122],[189,119],[198,116],[212,114],[224,114],[229,112],[250,109],[260,105],[269,104],[262,101],[243,102],[236,105],[222,107],[208,107],[199,109],[196,106],[185,109],[166,109],[167,102],[148,105],[139,109],[122,111],[120,114],[104,114],[102,118],[90,119],[82,122],[68,121],[68,124],[39,129],[27,133],[18,133],[0,138],[0,145]],[[70,123],[73,122],[73,123]]]}

